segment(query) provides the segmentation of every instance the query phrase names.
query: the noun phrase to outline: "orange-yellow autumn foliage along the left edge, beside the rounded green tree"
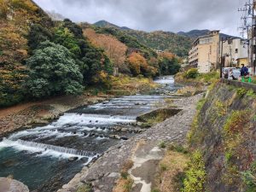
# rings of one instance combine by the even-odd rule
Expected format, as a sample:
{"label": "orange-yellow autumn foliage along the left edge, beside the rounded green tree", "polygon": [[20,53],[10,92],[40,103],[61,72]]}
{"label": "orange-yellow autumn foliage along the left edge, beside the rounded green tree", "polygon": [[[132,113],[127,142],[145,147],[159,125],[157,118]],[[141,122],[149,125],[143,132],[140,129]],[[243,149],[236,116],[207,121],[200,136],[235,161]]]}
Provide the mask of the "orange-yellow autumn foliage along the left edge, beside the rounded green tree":
{"label": "orange-yellow autumn foliage along the left edge, beside the rounded green tree", "polygon": [[49,17],[32,1],[0,0],[0,107],[24,98],[24,64],[29,57],[27,37],[32,24],[52,26]]}

